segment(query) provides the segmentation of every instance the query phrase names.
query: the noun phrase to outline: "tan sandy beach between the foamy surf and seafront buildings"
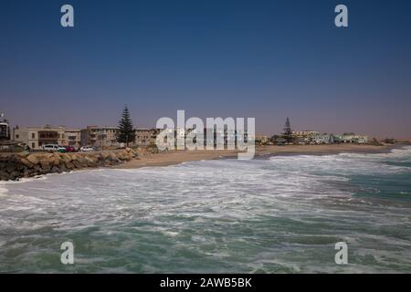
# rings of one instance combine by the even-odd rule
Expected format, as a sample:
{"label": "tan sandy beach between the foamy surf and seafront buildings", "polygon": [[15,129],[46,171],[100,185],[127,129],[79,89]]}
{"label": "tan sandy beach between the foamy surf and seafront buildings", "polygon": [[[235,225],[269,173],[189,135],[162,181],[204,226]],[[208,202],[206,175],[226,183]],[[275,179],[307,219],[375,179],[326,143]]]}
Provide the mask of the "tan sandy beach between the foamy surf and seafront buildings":
{"label": "tan sandy beach between the foamy surf and seafront buildings", "polygon": [[[381,153],[400,147],[399,145],[355,145],[355,144],[333,144],[333,145],[288,145],[288,146],[258,146],[256,147],[255,159],[264,155],[324,155],[342,152],[359,153]],[[114,166],[117,169],[133,169],[146,166],[166,166],[182,162],[193,162],[202,160],[216,160],[220,158],[236,158],[237,151],[168,151],[158,154],[148,154],[131,162]]]}

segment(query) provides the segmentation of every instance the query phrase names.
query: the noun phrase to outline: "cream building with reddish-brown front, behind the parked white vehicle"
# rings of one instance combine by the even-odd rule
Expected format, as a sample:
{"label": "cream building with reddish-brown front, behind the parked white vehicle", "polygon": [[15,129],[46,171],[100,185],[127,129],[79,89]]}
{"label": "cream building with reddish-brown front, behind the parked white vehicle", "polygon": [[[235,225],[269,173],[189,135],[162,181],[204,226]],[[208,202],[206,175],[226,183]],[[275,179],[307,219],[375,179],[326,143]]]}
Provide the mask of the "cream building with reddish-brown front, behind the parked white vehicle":
{"label": "cream building with reddish-brown front, behind the parked white vehicle", "polygon": [[16,126],[13,129],[13,140],[36,150],[47,144],[64,145],[66,143],[65,131],[66,127],[64,126],[52,127],[46,125],[44,127],[26,128]]}

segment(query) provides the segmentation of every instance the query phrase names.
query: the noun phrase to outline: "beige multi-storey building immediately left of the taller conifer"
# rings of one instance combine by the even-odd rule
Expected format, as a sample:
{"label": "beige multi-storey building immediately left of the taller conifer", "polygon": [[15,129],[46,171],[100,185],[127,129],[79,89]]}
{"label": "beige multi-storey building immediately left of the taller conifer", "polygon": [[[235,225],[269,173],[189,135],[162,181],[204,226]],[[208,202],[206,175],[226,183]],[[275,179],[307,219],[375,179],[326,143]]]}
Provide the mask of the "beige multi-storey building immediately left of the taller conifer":
{"label": "beige multi-storey building immediately left of the taller conifer", "polygon": [[117,141],[117,127],[87,126],[80,130],[81,146],[94,146],[100,149],[117,148],[120,143]]}

